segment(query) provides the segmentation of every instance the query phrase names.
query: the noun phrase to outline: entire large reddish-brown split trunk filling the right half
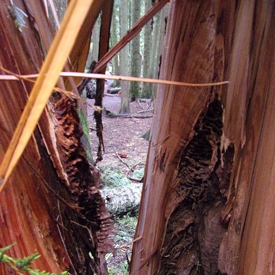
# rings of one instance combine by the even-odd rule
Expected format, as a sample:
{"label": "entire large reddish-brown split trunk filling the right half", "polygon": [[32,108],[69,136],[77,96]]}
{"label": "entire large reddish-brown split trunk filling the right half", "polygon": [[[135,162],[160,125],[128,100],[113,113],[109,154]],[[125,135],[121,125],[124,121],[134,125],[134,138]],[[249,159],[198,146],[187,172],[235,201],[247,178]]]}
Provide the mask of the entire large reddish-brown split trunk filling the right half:
{"label": "entire large reddish-brown split trunk filling the right half", "polygon": [[[275,3],[170,2],[131,274],[274,274]],[[183,16],[188,14],[188,16]]]}

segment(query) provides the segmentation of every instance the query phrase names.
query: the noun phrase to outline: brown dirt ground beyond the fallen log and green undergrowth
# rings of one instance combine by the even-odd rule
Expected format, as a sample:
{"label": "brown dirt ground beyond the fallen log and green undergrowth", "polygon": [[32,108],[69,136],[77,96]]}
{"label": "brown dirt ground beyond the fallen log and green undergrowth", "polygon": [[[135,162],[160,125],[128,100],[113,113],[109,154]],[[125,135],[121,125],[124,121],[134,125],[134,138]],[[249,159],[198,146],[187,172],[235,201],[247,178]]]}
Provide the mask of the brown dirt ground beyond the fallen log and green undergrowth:
{"label": "brown dirt ground beyond the fallen log and green undergrowth", "polygon": [[[88,102],[94,104],[94,100],[88,100]],[[113,113],[118,113],[120,96],[105,94],[103,107]],[[131,102],[130,108],[132,115],[153,115],[153,111],[147,111],[152,109],[151,102]],[[152,118],[109,118],[103,114],[102,120],[105,151],[102,162],[98,163],[99,168],[107,165],[117,166],[126,173],[129,168],[122,163],[118,155],[122,156],[122,160],[130,167],[138,162],[145,162],[148,141],[144,140],[142,135],[150,129]],[[94,131],[96,124],[94,110],[91,107],[88,107],[88,121],[91,129],[92,151],[96,159],[98,138]]]}

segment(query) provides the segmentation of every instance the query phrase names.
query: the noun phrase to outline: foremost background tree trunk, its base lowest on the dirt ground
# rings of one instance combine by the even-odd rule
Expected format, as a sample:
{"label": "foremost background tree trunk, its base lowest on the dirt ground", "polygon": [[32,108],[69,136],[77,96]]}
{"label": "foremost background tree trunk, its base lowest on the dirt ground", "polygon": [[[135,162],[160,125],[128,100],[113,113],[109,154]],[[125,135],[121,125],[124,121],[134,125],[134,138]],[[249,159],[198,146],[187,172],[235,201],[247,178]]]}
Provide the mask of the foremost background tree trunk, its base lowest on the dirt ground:
{"label": "foremost background tree trunk, its base lowest on the dirt ground", "polygon": [[[128,12],[129,1],[120,0],[120,39],[126,34],[128,30]],[[129,74],[129,46],[126,45],[120,51],[120,74],[127,76]],[[121,103],[120,113],[130,113],[129,104],[129,83],[126,81],[121,82]]]}

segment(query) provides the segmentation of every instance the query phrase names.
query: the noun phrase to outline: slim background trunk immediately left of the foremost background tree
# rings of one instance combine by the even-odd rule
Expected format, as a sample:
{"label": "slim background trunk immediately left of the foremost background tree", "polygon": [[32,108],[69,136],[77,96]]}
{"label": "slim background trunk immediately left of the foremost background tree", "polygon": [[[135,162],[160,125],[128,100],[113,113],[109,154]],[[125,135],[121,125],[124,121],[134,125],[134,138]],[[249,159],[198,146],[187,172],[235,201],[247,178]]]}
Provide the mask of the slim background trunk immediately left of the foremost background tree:
{"label": "slim background trunk immediately left of the foremost background tree", "polygon": [[[114,2],[113,5],[113,18],[111,23],[111,47],[118,43],[119,39],[119,14],[120,14],[120,5],[118,1]],[[120,65],[119,65],[119,58],[118,54],[112,59],[112,73],[116,76],[120,75]],[[120,81],[114,80],[113,87],[120,87]]]}

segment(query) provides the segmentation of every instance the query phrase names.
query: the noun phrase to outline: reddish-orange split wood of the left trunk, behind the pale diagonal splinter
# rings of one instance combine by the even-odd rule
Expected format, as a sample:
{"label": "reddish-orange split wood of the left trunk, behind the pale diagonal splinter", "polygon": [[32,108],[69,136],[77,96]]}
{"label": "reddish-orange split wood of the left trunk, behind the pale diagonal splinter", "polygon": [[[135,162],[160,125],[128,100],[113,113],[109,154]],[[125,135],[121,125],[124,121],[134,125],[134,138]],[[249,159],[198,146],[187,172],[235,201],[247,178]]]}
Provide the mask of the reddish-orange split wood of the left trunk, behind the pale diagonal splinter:
{"label": "reddish-orange split wood of the left trunk, behind the pale diagonal splinter", "polygon": [[[3,1],[0,7],[0,24],[3,30],[0,34],[1,65],[13,72],[28,74],[38,69],[43,62],[41,44],[39,40],[34,39],[28,20],[22,33],[17,30],[8,13],[9,5],[10,1]],[[19,5],[19,8],[23,9],[22,5]],[[36,3],[36,9],[43,14],[42,3]],[[29,14],[29,11],[24,11]],[[0,83],[1,159],[8,148],[31,89],[32,83],[23,81]],[[48,182],[53,190],[56,190],[54,183],[61,184],[61,181],[53,172],[50,158],[41,142],[41,134],[36,130],[8,186],[0,194],[0,246],[16,242],[17,245],[11,250],[12,256],[15,257],[37,251],[41,254],[41,259],[34,262],[34,268],[60,272],[69,267],[69,258],[56,230],[56,196],[45,188],[43,180]],[[34,170],[32,166],[35,167]],[[40,175],[35,173],[36,170]],[[63,184],[61,190],[62,186]],[[73,203],[66,192],[63,198]],[[49,232],[52,233],[49,235]],[[3,264],[0,265],[0,273],[9,274]]]}

